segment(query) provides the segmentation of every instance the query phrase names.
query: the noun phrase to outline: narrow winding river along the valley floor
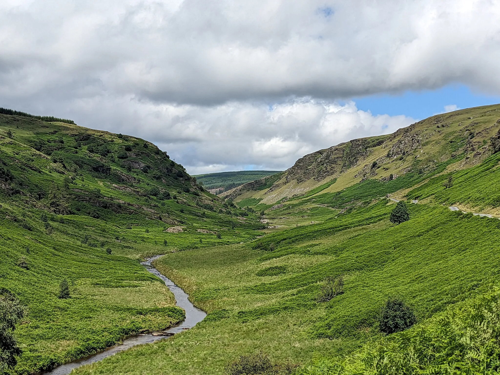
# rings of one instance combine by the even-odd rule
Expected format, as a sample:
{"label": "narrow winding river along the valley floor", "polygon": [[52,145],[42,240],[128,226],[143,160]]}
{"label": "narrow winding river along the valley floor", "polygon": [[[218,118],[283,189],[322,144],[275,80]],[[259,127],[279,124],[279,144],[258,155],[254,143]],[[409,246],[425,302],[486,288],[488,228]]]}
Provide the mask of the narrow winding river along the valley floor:
{"label": "narrow winding river along the valley floor", "polygon": [[140,264],[142,264],[149,272],[158,276],[165,282],[165,285],[168,286],[170,291],[175,296],[176,305],[185,310],[186,317],[184,320],[160,332],[153,332],[149,334],[137,334],[134,336],[127,337],[123,340],[123,343],[121,344],[108,347],[104,351],[95,353],[88,357],[81,358],[73,362],[61,364],[60,366],[54,367],[51,370],[41,372],[41,374],[67,375],[69,372],[71,372],[73,368],[80,367],[84,364],[97,362],[103,358],[116,354],[120,351],[126,350],[138,344],[150,343],[161,340],[165,338],[165,336],[171,336],[185,329],[189,329],[194,325],[196,325],[197,322],[203,320],[203,318],[206,316],[206,313],[203,310],[194,307],[193,304],[187,299],[187,294],[184,293],[184,291],[181,288],[175,285],[169,278],[159,273],[159,271],[151,265],[151,262],[153,260],[158,259],[160,256],[162,255],[152,256],[150,258],[147,258],[146,261],[143,261]]}

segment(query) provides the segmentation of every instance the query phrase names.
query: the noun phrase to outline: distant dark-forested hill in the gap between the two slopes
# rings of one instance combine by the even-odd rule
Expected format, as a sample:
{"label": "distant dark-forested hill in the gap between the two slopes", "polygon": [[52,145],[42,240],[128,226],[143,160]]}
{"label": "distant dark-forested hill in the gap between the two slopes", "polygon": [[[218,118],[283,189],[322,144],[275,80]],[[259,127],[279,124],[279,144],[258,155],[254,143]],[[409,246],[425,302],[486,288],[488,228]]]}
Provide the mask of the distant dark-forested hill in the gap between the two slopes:
{"label": "distant dark-forested hill in the gap between the two slopes", "polygon": [[221,194],[243,183],[254,181],[271,174],[279,173],[280,170],[238,170],[234,172],[219,172],[194,175],[203,187],[213,194]]}

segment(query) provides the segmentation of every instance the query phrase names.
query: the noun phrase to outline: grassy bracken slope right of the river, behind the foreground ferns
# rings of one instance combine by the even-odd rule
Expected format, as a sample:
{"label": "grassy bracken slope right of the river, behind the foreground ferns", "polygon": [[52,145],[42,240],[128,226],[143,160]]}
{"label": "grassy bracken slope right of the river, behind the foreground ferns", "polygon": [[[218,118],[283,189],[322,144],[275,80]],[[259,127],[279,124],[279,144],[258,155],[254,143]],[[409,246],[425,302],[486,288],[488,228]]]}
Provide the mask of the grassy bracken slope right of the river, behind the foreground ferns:
{"label": "grassy bracken slope right of the river, behind the foreground ferns", "polygon": [[[287,230],[287,236],[269,234],[261,240],[272,237],[273,252],[230,245],[162,257],[158,269],[208,312],[205,321],[76,373],[216,374],[255,349],[304,364],[317,354],[346,357],[382,337],[375,317],[389,295],[405,299],[423,322],[496,279],[498,220],[411,205],[411,219],[392,225],[387,217],[394,205],[385,204]],[[286,271],[258,275],[275,267]],[[321,280],[339,274],[344,293],[317,302]]]}

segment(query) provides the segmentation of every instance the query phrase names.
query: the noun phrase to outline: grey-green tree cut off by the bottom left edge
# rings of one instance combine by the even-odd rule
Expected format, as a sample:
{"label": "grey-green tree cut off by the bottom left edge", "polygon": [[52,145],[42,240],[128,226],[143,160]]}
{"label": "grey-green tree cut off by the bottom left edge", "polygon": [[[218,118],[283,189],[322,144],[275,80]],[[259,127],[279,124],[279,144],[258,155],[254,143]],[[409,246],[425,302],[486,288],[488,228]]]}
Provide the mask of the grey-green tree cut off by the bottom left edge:
{"label": "grey-green tree cut off by the bottom left edge", "polygon": [[25,314],[24,307],[11,294],[0,295],[0,373],[17,364],[16,355],[21,354],[13,335],[15,324]]}

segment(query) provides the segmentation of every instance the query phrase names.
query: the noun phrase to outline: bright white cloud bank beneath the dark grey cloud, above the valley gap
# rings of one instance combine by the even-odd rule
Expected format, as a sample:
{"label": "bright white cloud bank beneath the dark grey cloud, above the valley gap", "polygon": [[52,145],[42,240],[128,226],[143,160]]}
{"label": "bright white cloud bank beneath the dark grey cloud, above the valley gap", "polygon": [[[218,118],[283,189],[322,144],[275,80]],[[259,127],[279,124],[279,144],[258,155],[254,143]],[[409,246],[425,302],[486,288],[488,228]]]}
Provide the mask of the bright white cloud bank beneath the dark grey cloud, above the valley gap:
{"label": "bright white cloud bank beneath the dark grey cloud, above the valley gap", "polygon": [[[101,111],[88,114],[87,108],[97,103]],[[354,102],[340,105],[310,97],[270,106],[158,104],[126,97],[118,105],[104,97],[97,103],[82,101],[72,111],[85,115],[90,127],[154,139],[192,174],[284,170],[306,153],[415,122],[404,115],[373,115],[358,110]]]}

